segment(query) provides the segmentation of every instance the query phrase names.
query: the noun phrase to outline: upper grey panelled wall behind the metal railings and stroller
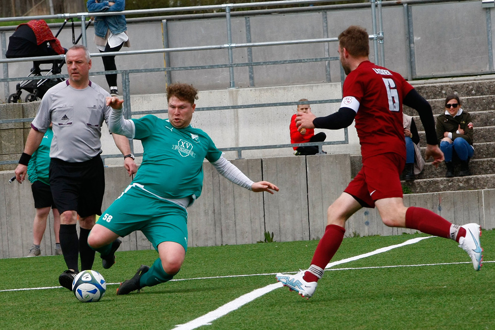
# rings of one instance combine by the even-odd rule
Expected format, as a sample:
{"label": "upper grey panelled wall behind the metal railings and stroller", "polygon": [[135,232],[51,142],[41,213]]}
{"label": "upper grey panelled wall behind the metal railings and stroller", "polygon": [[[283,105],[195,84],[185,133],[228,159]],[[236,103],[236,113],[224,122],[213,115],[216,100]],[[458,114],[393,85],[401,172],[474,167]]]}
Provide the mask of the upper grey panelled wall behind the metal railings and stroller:
{"label": "upper grey panelled wall behind the metal railings and stroller", "polygon": [[[386,1],[390,2],[390,1]],[[383,26],[385,36],[385,65],[407,77],[411,63],[409,51],[413,49],[413,73],[430,77],[433,75],[462,75],[489,71],[487,11],[480,0],[453,1],[428,4],[408,4],[410,21],[404,15],[401,3],[383,6]],[[493,10],[492,10],[493,11]],[[434,18],[432,18],[434,17]],[[324,18],[327,31],[324,31]],[[490,23],[495,26],[495,15]],[[362,25],[372,33],[371,9],[338,9],[312,11],[294,14],[265,14],[256,16],[232,17],[232,43],[285,41],[298,39],[337,37],[351,24]],[[2,29],[1,34],[8,44],[13,33]],[[162,22],[133,23],[129,19],[128,33],[131,48],[123,50],[143,50],[163,48]],[[407,29],[411,28],[413,38],[407,42]],[[492,28],[493,29],[493,28]],[[53,28],[56,31],[56,28]],[[169,20],[166,23],[169,47],[195,47],[205,45],[224,45],[227,43],[225,18]],[[495,44],[495,31],[492,30],[491,42]],[[78,33],[78,32],[76,32]],[[98,53],[93,43],[93,26],[87,30],[87,43],[92,53]],[[72,45],[72,32],[67,26],[59,39],[64,47]],[[252,61],[274,61],[298,58],[338,56],[337,44],[286,45],[271,47],[253,47]],[[373,43],[371,60],[375,60]],[[2,55],[3,56],[3,55]],[[248,62],[248,49],[233,50],[234,63]],[[170,53],[170,62],[165,63],[162,53],[117,56],[117,69],[147,69],[178,66],[212,65],[228,63],[227,49],[180,51]],[[326,76],[326,63],[277,64],[253,67],[252,82],[247,67],[234,68],[235,86],[238,88],[285,86],[340,82],[341,71],[338,61],[330,62],[330,81]],[[25,77],[32,63],[9,63],[9,77]],[[102,71],[100,58],[93,59],[93,72]],[[65,73],[65,68],[63,72]],[[3,72],[3,70],[0,70]],[[0,77],[4,78],[3,73]],[[174,71],[172,81],[192,82],[200,90],[223,90],[230,87],[229,68],[205,70]],[[96,83],[107,87],[103,76],[92,78]],[[119,88],[121,81],[119,77]],[[130,75],[131,94],[163,93],[166,83],[164,72],[143,72]],[[10,93],[15,91],[16,82],[9,83]],[[3,85],[3,84],[2,84]],[[25,96],[27,93],[24,92]],[[8,94],[0,88],[0,99]]]}

